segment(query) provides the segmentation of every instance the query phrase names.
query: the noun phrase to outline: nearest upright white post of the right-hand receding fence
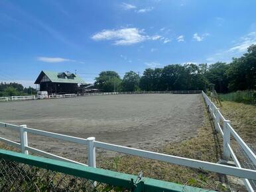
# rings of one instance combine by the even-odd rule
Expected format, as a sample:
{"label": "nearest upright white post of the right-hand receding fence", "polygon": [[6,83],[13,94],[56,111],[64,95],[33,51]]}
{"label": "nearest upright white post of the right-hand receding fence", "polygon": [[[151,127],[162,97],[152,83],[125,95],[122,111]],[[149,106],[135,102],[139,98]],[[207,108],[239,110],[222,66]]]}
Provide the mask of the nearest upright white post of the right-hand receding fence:
{"label": "nearest upright white post of the right-hand receding fence", "polygon": [[229,123],[230,120],[224,120],[223,121],[223,158],[224,160],[229,160],[230,154],[228,150],[228,144],[230,144],[230,130],[227,127],[227,123]]}

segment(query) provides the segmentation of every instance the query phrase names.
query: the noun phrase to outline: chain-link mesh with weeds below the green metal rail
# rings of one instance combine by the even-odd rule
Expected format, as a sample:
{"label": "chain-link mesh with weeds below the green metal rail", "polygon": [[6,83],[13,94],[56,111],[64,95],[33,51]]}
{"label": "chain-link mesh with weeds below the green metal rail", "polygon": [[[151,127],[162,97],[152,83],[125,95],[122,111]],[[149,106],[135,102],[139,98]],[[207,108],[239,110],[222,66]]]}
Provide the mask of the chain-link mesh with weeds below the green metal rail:
{"label": "chain-link mesh with weeds below the green metal rail", "polygon": [[0,159],[0,191],[131,191],[131,189]]}

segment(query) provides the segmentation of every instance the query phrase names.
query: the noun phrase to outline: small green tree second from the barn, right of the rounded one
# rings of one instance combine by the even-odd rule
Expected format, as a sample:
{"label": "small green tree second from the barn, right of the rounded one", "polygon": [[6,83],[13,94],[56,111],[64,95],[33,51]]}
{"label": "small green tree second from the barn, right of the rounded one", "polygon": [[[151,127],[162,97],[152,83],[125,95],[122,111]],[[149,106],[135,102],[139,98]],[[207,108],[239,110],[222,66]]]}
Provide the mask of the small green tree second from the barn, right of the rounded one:
{"label": "small green tree second from the barn, right of the rounded one", "polygon": [[123,91],[137,91],[139,89],[139,75],[133,71],[125,73],[122,87]]}

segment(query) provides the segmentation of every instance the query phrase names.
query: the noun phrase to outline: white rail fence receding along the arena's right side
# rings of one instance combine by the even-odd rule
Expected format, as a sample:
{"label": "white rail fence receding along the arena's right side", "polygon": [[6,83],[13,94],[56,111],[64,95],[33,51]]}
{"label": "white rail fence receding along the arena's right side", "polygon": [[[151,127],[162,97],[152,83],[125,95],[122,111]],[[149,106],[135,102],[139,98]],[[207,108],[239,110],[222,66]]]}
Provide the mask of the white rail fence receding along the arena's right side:
{"label": "white rail fence receding along the arena's right side", "polygon": [[[226,120],[224,118],[222,113],[220,113],[220,109],[218,109],[218,107],[216,107],[216,105],[212,101],[210,101],[210,99],[207,97],[204,91],[202,91],[202,95],[204,97],[204,100],[206,101],[206,105],[208,106],[210,114],[214,119],[215,130],[220,132],[220,134],[223,137],[223,158],[225,160],[229,160],[229,158],[231,157],[233,159],[233,162],[235,163],[235,166],[237,166],[237,168],[241,168],[241,164],[237,159],[237,156],[235,155],[233,149],[231,148],[230,137],[233,136],[233,138],[237,141],[239,146],[241,146],[245,154],[247,154],[251,162],[253,162],[253,164],[256,166],[256,156],[254,152],[241,139],[237,132],[235,132],[235,130],[232,128],[230,124],[230,120]],[[247,190],[253,191],[253,188],[251,187],[251,184],[249,183],[248,179],[243,179],[243,181],[245,183]]]}

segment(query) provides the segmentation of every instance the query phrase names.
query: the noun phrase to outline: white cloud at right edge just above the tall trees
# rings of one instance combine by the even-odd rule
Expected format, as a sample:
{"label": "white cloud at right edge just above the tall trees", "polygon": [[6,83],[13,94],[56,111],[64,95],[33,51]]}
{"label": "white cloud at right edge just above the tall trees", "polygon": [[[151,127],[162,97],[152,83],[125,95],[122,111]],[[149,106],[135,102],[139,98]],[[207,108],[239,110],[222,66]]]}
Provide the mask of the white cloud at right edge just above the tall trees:
{"label": "white cloud at right edge just above the tall trees", "polygon": [[235,46],[229,48],[229,51],[243,53],[251,44],[256,44],[256,32],[249,32],[249,34],[242,36]]}

